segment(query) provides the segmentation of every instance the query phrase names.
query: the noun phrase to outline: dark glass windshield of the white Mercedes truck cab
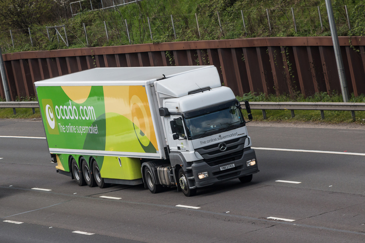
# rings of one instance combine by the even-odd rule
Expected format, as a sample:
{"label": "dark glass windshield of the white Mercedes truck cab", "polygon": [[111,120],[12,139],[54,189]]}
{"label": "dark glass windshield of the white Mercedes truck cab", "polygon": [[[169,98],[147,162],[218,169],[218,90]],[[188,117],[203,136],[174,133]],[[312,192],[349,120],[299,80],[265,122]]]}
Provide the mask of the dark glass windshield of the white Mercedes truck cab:
{"label": "dark glass windshield of the white Mercedes truck cab", "polygon": [[191,139],[227,131],[245,124],[241,111],[235,105],[229,105],[197,116],[186,116],[187,135]]}

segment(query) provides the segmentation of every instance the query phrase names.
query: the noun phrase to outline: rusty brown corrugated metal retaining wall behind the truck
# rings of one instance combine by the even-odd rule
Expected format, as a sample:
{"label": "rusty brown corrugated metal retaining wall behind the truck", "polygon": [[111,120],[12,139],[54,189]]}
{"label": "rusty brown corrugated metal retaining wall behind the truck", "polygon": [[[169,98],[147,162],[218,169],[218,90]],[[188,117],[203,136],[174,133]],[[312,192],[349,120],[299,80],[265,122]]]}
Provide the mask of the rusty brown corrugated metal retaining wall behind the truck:
{"label": "rusty brown corrugated metal retaining wall behind the truck", "polygon": [[[365,39],[339,37],[348,89],[365,94]],[[139,44],[4,54],[11,98],[34,82],[94,67],[215,65],[235,95],[341,92],[331,37],[274,37]],[[4,88],[0,86],[4,99]]]}

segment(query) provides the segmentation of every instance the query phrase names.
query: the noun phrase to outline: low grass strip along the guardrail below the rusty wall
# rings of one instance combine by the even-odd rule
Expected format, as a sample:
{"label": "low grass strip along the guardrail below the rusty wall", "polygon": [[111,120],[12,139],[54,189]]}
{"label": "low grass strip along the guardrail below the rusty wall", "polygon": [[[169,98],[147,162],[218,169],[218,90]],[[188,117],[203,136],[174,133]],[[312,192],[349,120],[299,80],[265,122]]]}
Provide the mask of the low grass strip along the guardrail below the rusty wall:
{"label": "low grass strip along the guardrail below the rusty wall", "polygon": [[[314,96],[304,98],[301,95],[296,96],[294,99],[289,96],[265,96],[264,94],[254,95],[252,93],[245,94],[243,97],[237,97],[238,101],[254,101],[254,102],[343,102],[342,96],[338,94],[328,95],[327,93],[315,94]],[[365,102],[365,95],[350,98],[350,102]],[[33,114],[30,108],[17,108],[17,114],[13,114],[13,109],[3,108],[0,109],[0,118],[24,118],[34,119],[40,118],[39,109],[35,109]],[[266,110],[267,119],[264,120],[261,110],[253,110],[254,121],[283,121],[283,122],[325,122],[325,123],[358,123],[365,124],[365,111],[356,111],[356,121],[352,120],[350,111],[324,111],[325,119],[321,120],[320,111],[299,111],[295,110],[295,117],[291,117],[290,110]],[[244,111],[246,116],[246,112]]]}

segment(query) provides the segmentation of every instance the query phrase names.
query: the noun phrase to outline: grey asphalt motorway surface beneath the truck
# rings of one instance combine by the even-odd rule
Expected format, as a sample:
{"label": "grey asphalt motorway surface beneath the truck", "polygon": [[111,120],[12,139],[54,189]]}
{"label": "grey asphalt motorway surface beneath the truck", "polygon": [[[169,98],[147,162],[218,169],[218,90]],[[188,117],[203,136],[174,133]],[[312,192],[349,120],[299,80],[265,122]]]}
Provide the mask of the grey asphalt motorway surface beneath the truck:
{"label": "grey asphalt motorway surface beneath the truck", "polygon": [[79,187],[49,163],[41,122],[1,120],[0,242],[365,241],[365,130],[248,129],[260,168],[253,181],[188,198]]}

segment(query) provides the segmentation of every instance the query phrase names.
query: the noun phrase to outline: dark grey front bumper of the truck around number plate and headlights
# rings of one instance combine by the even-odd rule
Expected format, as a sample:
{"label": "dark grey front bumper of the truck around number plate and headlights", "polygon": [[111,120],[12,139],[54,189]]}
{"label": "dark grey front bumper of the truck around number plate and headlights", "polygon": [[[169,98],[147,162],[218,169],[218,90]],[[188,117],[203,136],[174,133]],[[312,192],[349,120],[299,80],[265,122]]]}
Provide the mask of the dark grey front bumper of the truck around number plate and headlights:
{"label": "dark grey front bumper of the truck around number plate and headlights", "polygon": [[[257,159],[256,165],[247,167],[246,162],[250,159],[256,159],[255,150],[251,147],[245,148],[244,153],[240,159],[233,160],[224,164],[209,166],[204,160],[196,161],[192,165],[193,175],[197,187],[206,187],[218,182],[224,182],[233,180],[239,177],[248,176],[259,172]],[[234,168],[227,169],[224,171],[220,170],[220,167],[234,164]],[[209,177],[199,179],[198,173],[208,172]]]}

